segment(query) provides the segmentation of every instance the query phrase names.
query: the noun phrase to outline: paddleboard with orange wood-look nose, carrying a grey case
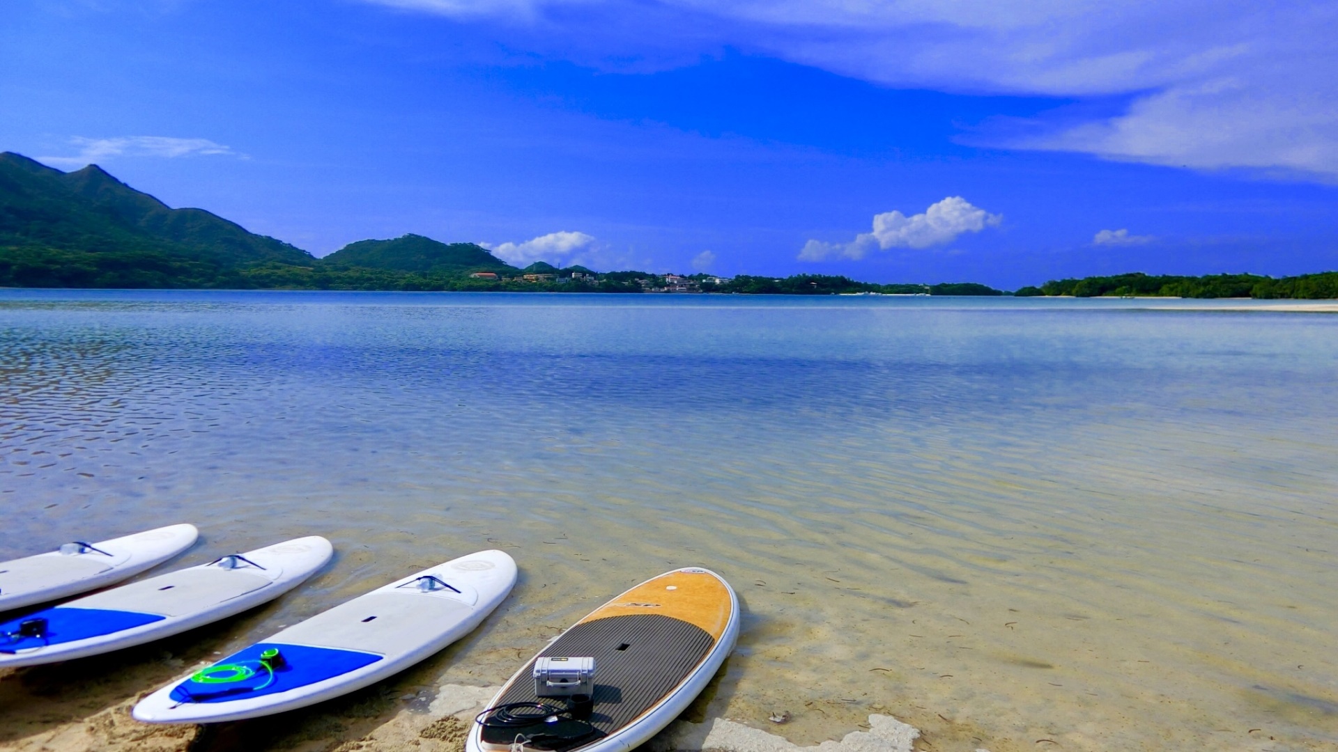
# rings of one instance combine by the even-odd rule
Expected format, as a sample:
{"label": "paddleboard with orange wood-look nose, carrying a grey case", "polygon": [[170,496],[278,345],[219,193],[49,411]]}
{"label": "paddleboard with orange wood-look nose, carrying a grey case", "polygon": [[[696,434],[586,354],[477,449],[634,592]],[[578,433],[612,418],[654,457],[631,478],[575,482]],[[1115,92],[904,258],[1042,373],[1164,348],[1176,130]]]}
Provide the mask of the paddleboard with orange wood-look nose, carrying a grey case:
{"label": "paddleboard with orange wood-look nose, carrying a grey case", "polygon": [[648,579],[516,672],[476,719],[466,752],[632,749],[688,708],[737,636],[739,599],[716,573]]}

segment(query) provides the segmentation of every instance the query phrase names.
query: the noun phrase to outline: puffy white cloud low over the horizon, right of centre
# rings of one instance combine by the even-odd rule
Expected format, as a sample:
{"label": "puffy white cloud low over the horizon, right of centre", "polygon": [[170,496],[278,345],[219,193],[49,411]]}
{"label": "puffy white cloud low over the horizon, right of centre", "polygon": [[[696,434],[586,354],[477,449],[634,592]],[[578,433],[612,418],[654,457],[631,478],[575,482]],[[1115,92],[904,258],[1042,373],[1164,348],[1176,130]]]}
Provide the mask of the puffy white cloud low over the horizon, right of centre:
{"label": "puffy white cloud low over the horizon, right of centre", "polygon": [[811,240],[799,252],[801,261],[822,261],[831,256],[863,258],[875,249],[930,248],[953,242],[963,233],[978,233],[997,226],[1002,214],[990,214],[959,195],[950,195],[930,205],[922,214],[910,217],[900,211],[874,215],[874,231],[860,233],[847,244]]}

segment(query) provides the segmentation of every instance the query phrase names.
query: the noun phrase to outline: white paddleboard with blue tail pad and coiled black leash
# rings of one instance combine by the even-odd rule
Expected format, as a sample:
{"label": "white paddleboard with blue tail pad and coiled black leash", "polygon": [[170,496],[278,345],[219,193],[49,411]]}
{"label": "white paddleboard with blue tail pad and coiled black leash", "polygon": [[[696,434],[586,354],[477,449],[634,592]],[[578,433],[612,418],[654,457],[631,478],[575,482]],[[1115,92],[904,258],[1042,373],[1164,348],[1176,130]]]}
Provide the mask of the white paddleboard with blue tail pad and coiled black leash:
{"label": "white paddleboard with blue tail pad and coiled black leash", "polygon": [[0,624],[0,668],[108,653],[272,601],[325,566],[318,535],[231,554]]}

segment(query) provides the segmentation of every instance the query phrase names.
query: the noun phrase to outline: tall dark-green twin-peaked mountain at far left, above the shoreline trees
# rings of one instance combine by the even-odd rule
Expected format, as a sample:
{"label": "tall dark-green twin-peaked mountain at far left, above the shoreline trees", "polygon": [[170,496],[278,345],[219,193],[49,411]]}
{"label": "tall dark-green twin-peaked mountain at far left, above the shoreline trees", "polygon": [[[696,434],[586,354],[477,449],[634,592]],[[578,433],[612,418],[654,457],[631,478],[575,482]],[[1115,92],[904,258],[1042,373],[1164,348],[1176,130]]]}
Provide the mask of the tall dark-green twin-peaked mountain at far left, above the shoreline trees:
{"label": "tall dark-green twin-peaked mountain at far left, above the shoreline trees", "polygon": [[5,246],[151,253],[221,268],[314,262],[305,250],[203,209],[171,209],[96,165],[62,173],[8,151],[0,154],[0,248]]}

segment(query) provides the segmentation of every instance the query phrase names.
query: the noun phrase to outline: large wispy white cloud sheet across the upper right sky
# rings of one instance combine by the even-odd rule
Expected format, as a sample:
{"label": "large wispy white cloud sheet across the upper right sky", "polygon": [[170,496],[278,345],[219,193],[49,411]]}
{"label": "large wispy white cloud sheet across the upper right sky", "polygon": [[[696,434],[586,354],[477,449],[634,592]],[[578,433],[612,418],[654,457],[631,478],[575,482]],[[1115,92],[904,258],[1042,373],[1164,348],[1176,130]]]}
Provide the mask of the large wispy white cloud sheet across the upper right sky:
{"label": "large wispy white cloud sheet across the upper right sky", "polygon": [[[519,21],[589,62],[723,45],[894,87],[1128,95],[1004,146],[1338,178],[1338,12],[1315,0],[368,0]],[[573,8],[579,7],[579,12]],[[583,25],[582,25],[583,24]],[[579,27],[579,28],[578,28]],[[646,33],[646,29],[654,33]],[[591,50],[591,47],[594,50]],[[654,48],[661,50],[654,50]],[[665,47],[674,47],[665,51]],[[690,48],[690,50],[684,50]],[[688,55],[682,55],[688,52]],[[676,55],[677,54],[677,55]]]}

